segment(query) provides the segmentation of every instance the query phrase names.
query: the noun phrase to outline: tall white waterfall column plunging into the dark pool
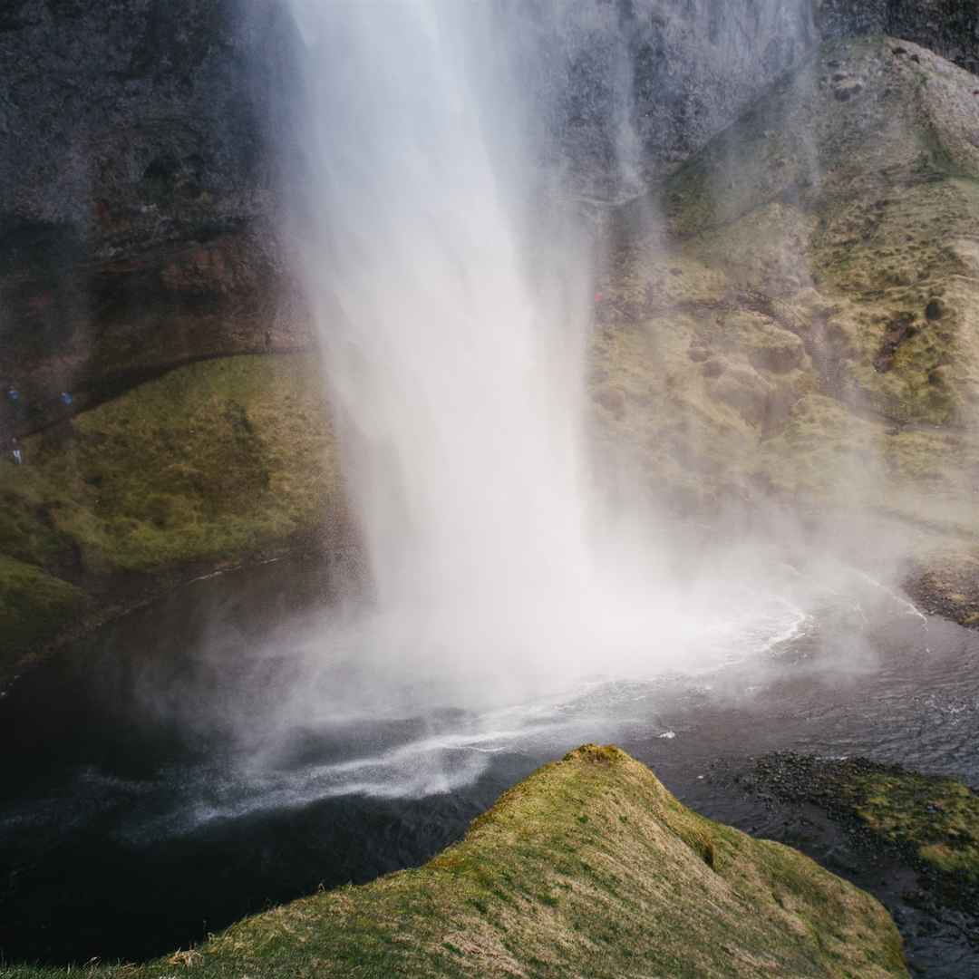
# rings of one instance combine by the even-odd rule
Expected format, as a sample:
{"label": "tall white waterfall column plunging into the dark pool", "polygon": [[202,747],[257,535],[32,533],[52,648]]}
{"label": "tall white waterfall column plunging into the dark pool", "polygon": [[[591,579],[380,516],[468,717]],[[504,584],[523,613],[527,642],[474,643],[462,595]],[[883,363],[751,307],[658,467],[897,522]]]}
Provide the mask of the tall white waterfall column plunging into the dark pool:
{"label": "tall white waterfall column plunging into the dark pool", "polygon": [[768,622],[767,599],[715,588],[685,611],[589,498],[591,263],[534,24],[458,0],[292,4],[289,231],[374,584],[311,644],[331,677],[303,683],[317,709],[324,682],[334,706],[370,690],[387,707],[392,681],[411,704],[524,698]]}

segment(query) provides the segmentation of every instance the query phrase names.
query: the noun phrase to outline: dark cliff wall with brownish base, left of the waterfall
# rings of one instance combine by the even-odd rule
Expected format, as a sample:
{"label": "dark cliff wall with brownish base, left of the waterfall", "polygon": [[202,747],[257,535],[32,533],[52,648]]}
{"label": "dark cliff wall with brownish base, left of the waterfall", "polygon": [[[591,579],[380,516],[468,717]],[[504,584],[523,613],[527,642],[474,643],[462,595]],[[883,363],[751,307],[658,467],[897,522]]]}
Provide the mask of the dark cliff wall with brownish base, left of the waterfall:
{"label": "dark cliff wall with brownish base, left of the waterfall", "polygon": [[[303,346],[279,303],[271,3],[0,13],[0,380],[27,424],[181,361]],[[288,291],[286,291],[288,294]]]}

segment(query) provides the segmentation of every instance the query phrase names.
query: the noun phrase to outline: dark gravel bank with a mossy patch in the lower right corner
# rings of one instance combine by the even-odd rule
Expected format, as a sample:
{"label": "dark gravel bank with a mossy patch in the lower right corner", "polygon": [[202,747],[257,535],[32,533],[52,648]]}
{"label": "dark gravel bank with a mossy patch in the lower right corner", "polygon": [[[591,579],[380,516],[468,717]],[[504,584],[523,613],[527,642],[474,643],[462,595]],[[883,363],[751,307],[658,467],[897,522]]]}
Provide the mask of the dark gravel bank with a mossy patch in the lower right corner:
{"label": "dark gravel bank with a mossy patch in the lower right corner", "polygon": [[979,969],[974,788],[862,758],[793,753],[719,762],[710,777],[732,806],[740,799],[759,808],[756,832],[802,850],[881,901],[915,974]]}

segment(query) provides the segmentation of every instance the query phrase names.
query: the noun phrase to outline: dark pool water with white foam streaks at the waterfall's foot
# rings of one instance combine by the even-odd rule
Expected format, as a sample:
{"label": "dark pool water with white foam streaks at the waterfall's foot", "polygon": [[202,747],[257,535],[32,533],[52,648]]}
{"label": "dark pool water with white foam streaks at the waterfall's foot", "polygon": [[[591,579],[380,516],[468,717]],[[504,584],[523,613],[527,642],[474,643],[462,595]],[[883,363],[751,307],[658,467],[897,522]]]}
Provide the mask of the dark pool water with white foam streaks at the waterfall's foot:
{"label": "dark pool water with white foam streaks at the waterfall's foot", "polygon": [[[979,633],[856,573],[845,594],[745,634],[698,672],[596,675],[482,712],[275,727],[271,677],[288,674],[288,643],[280,658],[269,648],[329,591],[313,561],[202,580],[6,692],[0,958],[138,960],[423,862],[587,741],[622,745],[700,812],[774,837],[784,827],[714,777],[719,761],[861,755],[979,784]],[[243,717],[256,722],[245,736]],[[979,976],[956,941],[909,944],[928,975]]]}

